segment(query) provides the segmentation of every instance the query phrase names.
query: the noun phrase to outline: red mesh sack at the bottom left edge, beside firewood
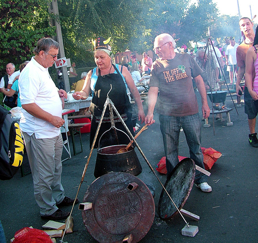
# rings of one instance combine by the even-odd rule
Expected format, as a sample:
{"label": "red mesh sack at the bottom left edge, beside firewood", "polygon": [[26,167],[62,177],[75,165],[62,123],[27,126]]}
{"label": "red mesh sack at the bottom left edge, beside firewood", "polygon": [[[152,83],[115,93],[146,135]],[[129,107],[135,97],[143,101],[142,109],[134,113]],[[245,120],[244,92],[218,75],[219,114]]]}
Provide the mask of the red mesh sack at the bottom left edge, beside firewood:
{"label": "red mesh sack at the bottom left edge, beside firewood", "polygon": [[28,227],[18,230],[14,238],[13,243],[53,243],[46,232]]}

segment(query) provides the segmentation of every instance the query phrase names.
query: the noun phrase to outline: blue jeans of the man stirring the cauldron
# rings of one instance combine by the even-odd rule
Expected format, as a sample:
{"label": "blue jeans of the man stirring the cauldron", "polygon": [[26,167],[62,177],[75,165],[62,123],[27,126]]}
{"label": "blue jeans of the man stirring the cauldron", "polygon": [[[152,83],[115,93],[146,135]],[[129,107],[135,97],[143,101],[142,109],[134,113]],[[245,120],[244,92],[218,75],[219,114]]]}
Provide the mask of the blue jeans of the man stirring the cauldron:
{"label": "blue jeans of the man stirring the cauldron", "polygon": [[[203,154],[201,152],[201,122],[199,114],[188,116],[159,115],[160,130],[163,136],[164,150],[166,155],[167,176],[179,163],[178,147],[179,134],[182,126],[189,147],[190,158],[195,164],[204,169]],[[196,170],[196,184],[207,181],[207,176]]]}

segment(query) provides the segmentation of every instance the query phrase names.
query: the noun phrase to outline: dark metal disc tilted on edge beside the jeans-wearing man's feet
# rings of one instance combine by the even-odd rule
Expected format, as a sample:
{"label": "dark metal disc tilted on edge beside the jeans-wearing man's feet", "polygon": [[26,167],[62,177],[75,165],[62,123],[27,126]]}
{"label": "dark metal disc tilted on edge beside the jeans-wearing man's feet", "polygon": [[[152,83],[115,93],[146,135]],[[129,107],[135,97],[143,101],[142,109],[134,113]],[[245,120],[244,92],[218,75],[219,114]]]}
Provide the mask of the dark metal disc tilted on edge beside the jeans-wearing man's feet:
{"label": "dark metal disc tilted on edge beside the jeans-wearing man's feet", "polygon": [[[179,210],[183,208],[192,190],[194,177],[194,161],[191,158],[184,158],[174,168],[164,184],[165,189]],[[164,189],[162,189],[159,197],[158,213],[162,219],[170,219],[178,213]]]}

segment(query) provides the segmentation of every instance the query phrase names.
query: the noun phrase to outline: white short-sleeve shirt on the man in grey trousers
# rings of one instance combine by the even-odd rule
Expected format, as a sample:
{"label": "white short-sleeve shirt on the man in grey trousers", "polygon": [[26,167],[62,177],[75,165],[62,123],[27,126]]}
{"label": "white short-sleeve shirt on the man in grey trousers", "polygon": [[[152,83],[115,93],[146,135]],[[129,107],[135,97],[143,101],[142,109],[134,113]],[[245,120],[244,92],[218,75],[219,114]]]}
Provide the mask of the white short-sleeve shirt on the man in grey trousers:
{"label": "white short-sleeve shirt on the man in grey trousers", "polygon": [[[48,68],[41,66],[32,57],[22,70],[19,77],[21,105],[37,104],[41,109],[55,116],[62,116],[62,103]],[[36,139],[54,138],[60,134],[48,121],[36,118],[22,109],[20,128],[30,136],[34,133]]]}

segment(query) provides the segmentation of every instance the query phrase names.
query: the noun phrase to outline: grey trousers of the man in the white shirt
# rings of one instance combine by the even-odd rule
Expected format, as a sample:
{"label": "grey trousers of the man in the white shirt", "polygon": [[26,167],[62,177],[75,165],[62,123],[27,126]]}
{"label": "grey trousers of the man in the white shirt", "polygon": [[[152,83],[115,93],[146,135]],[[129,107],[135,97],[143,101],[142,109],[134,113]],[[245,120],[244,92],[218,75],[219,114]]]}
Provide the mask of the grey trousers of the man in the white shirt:
{"label": "grey trousers of the man in the white shirt", "polygon": [[29,165],[33,177],[34,196],[40,207],[40,215],[51,215],[64,199],[61,184],[63,140],[55,138],[36,139],[35,134],[23,133]]}

